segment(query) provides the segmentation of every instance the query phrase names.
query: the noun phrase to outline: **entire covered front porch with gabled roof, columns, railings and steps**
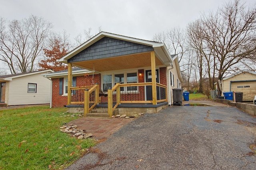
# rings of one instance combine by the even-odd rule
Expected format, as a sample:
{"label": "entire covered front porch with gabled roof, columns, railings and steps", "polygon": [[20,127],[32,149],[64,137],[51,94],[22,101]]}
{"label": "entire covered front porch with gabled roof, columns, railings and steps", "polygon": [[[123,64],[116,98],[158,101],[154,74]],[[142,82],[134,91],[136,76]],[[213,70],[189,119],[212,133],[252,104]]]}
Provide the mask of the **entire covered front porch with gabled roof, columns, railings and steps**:
{"label": "entire covered front porch with gabled roof, columns, railings and steps", "polygon": [[[150,112],[156,113],[168,106],[166,72],[168,66],[172,67],[172,57],[163,43],[102,32],[59,61],[68,64],[66,107],[78,108],[80,106],[83,108],[84,116],[98,107],[107,108],[108,116],[111,117],[116,109],[125,112],[124,108],[126,111],[130,108],[131,114],[142,108],[151,108]],[[72,67],[74,66],[100,74],[98,84],[72,86]],[[159,73],[160,68],[163,68],[162,73]],[[120,75],[118,73],[113,73],[112,82],[104,80],[106,72],[123,70],[126,72],[136,70],[136,72],[120,76],[120,81],[115,79],[116,75]],[[128,77],[128,74],[135,75]],[[160,80],[160,75],[164,80]],[[124,78],[126,80],[123,80]],[[160,83],[161,81],[165,84]],[[148,111],[143,110],[144,113]]]}

